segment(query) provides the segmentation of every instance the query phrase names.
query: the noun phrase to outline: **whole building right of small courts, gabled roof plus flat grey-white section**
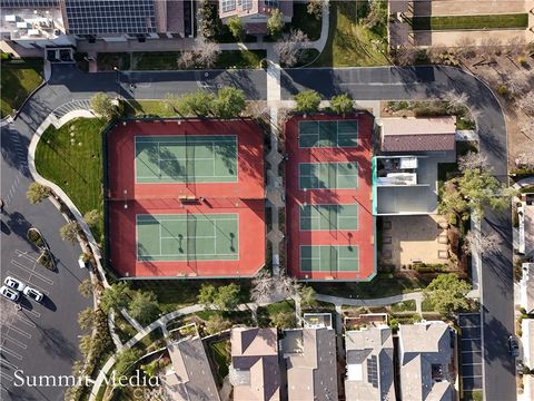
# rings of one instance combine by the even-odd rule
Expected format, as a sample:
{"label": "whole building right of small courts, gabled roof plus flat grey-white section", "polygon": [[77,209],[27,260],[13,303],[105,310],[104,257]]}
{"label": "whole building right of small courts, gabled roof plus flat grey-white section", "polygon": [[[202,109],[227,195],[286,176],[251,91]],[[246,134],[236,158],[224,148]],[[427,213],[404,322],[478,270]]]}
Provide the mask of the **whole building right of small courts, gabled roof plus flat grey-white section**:
{"label": "whole building right of small courts, gabled roof plus flat grey-white section", "polygon": [[453,117],[382,119],[379,156],[373,158],[373,213],[437,213],[437,167],[456,162]]}

